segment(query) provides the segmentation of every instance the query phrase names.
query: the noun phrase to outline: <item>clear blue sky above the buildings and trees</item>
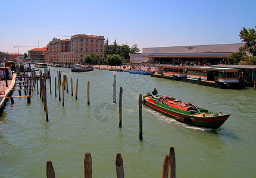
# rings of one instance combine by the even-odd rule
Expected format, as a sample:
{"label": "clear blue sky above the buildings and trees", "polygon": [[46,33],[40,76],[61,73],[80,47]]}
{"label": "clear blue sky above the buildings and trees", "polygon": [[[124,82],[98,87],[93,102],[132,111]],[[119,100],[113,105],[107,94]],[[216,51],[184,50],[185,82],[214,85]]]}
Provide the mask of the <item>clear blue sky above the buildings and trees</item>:
{"label": "clear blue sky above the buildings and trees", "polygon": [[[0,51],[46,46],[57,35],[94,34],[143,47],[241,43],[256,1],[1,1]],[[33,47],[20,47],[20,53]]]}

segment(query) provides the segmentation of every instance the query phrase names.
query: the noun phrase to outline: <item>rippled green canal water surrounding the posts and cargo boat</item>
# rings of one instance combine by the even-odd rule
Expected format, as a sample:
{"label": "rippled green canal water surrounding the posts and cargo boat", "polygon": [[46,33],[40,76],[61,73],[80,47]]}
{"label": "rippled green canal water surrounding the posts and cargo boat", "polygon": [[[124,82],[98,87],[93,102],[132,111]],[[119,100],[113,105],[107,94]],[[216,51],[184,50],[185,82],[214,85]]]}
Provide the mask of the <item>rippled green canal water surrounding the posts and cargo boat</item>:
{"label": "rippled green canal water surrounding the posts and cargo boat", "polygon": [[[161,177],[163,160],[173,146],[177,177],[256,176],[256,92],[221,90],[182,81],[117,72],[117,103],[113,104],[113,72],[95,69],[71,73],[51,69],[47,81],[49,122],[36,90],[26,98],[7,101],[0,117],[0,177],[46,177],[51,160],[57,177],[83,177],[85,152],[92,155],[93,177],[115,177],[120,152],[126,177]],[[68,77],[65,106],[55,97],[54,78]],[[78,99],[71,96],[70,77]],[[90,81],[90,105],[87,83]],[[118,94],[123,87],[123,127],[118,127]],[[139,141],[139,94],[157,88],[213,112],[232,115],[217,130],[196,128],[143,106],[143,141]],[[57,93],[58,95],[58,93]],[[74,92],[75,95],[75,92]],[[14,92],[13,96],[18,96]],[[62,94],[61,94],[62,97]]]}

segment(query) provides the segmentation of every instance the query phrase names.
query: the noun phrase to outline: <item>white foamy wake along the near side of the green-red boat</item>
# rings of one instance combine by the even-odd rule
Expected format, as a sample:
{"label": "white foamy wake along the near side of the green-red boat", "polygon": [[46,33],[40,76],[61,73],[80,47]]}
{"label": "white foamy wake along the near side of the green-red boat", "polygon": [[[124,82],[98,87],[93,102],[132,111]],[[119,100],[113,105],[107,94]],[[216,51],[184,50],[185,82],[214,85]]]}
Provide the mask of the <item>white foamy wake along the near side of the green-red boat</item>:
{"label": "white foamy wake along the near side of the green-red boat", "polygon": [[198,127],[195,127],[195,126],[191,126],[191,125],[187,125],[185,123],[182,123],[182,122],[179,122],[171,117],[168,117],[168,116],[165,116],[165,115],[162,115],[161,113],[158,113],[156,112],[155,110],[152,110],[152,109],[145,109],[147,112],[149,113],[152,113],[153,115],[155,115],[155,117],[157,119],[159,119],[161,122],[165,122],[165,123],[168,123],[168,124],[175,124],[175,125],[178,125],[178,126],[182,126],[183,128],[188,128],[188,129],[194,129],[194,130],[198,130],[198,131],[212,131],[213,129],[210,129],[210,128],[198,128]]}

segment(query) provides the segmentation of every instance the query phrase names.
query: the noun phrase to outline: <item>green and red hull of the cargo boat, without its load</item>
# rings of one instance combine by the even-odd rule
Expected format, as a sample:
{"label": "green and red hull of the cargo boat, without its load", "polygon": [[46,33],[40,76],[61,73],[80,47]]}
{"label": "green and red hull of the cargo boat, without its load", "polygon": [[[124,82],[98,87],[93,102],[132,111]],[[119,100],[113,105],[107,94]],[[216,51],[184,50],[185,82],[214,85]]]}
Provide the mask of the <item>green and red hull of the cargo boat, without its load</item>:
{"label": "green and red hull of the cargo boat, without its load", "polygon": [[[151,107],[154,110],[157,110],[160,113],[163,113],[166,116],[170,116],[173,119],[178,120],[179,122],[203,128],[218,129],[230,116],[230,114],[223,115],[208,112],[208,110],[205,109],[200,109],[205,112],[201,112],[201,116],[198,116],[195,115],[195,113],[191,113],[186,110],[176,109],[174,107],[166,106],[161,103],[153,103],[151,101],[146,100],[145,98],[143,98],[143,104],[145,104],[148,107]],[[203,116],[203,114],[205,116]]]}

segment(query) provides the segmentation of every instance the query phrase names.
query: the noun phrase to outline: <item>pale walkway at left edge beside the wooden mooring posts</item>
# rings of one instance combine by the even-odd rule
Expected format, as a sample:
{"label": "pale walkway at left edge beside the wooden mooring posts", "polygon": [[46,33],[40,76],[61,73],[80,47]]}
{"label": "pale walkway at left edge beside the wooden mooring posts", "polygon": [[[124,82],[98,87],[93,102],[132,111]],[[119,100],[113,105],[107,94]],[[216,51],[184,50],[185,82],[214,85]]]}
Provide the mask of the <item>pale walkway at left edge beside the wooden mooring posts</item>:
{"label": "pale walkway at left edge beside the wooden mooring posts", "polygon": [[5,84],[5,80],[0,81],[0,86],[4,85],[4,93],[2,91],[0,93],[0,109],[2,109],[2,107],[4,107],[4,103],[6,100],[5,97],[7,97],[11,93],[11,91],[15,85],[15,80],[16,80],[16,74],[13,74],[12,80],[7,80],[8,87]]}

